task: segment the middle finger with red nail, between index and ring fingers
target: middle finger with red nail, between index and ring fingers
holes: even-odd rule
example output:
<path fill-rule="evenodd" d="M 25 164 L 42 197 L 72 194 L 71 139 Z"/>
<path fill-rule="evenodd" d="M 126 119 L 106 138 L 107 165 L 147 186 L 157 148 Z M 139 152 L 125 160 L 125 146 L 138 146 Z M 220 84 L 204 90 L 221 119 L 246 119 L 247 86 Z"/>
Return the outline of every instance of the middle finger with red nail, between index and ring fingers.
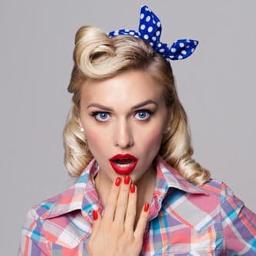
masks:
<path fill-rule="evenodd" d="M 114 221 L 121 227 L 124 224 L 126 216 L 126 208 L 128 204 L 129 192 L 130 192 L 130 177 L 126 176 L 123 179 L 123 184 L 120 187 L 120 193 L 116 204 L 116 212 Z"/>

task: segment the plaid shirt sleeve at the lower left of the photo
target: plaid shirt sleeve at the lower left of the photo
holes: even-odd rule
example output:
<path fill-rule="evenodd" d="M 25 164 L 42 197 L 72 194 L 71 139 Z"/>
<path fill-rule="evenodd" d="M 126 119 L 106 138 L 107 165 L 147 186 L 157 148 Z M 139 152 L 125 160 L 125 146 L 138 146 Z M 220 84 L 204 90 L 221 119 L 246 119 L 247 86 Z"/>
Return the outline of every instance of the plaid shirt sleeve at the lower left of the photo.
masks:
<path fill-rule="evenodd" d="M 26 215 L 22 227 L 22 239 L 18 256 L 45 256 L 49 255 L 45 237 L 42 233 L 42 223 L 35 210 L 32 209 Z"/>

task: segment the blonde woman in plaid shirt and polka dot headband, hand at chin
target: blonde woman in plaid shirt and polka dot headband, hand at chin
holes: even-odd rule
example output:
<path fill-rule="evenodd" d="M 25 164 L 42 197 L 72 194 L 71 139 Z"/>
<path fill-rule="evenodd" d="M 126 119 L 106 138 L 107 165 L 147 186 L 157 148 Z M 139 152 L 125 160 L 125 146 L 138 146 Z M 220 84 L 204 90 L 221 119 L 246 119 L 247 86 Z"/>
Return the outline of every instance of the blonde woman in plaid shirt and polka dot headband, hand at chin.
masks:
<path fill-rule="evenodd" d="M 22 255 L 254 255 L 255 214 L 195 162 L 170 59 L 147 6 L 139 32 L 76 34 L 64 130 L 76 184 L 33 207 Z M 110 36 L 110 37 L 109 37 Z"/>

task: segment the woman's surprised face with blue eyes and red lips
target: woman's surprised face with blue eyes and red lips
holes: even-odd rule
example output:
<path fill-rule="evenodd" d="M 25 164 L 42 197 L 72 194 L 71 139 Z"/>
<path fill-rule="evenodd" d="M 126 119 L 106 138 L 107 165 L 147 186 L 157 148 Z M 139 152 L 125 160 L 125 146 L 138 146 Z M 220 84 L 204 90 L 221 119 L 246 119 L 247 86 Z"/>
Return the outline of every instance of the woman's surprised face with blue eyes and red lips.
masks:
<path fill-rule="evenodd" d="M 129 71 L 81 89 L 80 121 L 99 172 L 110 180 L 140 180 L 150 168 L 167 129 L 163 86 L 143 71 Z"/>

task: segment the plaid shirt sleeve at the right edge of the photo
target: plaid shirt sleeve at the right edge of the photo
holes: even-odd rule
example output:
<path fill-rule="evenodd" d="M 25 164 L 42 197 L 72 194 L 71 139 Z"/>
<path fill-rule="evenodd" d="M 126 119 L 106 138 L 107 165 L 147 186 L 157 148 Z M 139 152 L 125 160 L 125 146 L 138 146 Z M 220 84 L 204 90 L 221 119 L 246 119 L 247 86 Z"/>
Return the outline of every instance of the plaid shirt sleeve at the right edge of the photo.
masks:
<path fill-rule="evenodd" d="M 227 255 L 256 255 L 256 214 L 222 184 L 221 214 Z"/>

